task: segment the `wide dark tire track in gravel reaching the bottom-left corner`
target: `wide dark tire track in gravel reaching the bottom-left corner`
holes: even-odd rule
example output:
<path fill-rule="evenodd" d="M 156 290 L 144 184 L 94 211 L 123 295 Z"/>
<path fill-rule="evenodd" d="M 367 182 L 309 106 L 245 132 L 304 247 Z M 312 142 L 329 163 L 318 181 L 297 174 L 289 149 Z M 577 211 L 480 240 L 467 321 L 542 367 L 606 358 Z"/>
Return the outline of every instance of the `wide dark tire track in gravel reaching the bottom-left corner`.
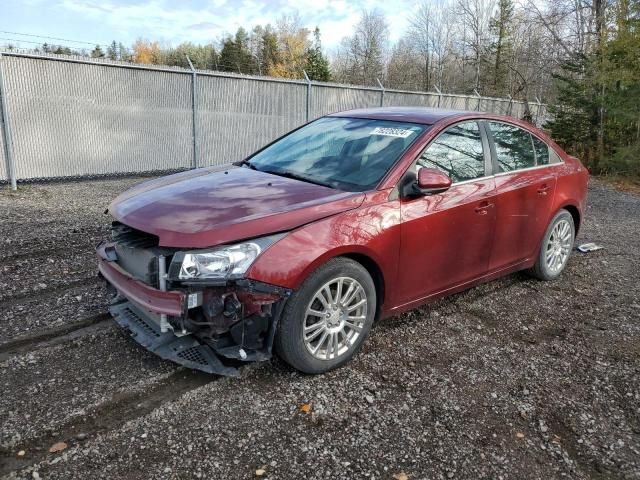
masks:
<path fill-rule="evenodd" d="M 41 462 L 51 455 L 49 447 L 64 441 L 69 446 L 78 445 L 104 433 L 116 430 L 131 420 L 142 417 L 159 406 L 179 399 L 181 396 L 214 382 L 221 377 L 203 372 L 179 369 L 169 377 L 141 392 L 122 392 L 87 414 L 73 418 L 63 424 L 57 432 L 45 434 L 19 444 L 16 448 L 0 447 L 0 475 L 21 470 Z M 82 433 L 81 437 L 78 435 Z M 17 457 L 15 452 L 27 452 Z"/>

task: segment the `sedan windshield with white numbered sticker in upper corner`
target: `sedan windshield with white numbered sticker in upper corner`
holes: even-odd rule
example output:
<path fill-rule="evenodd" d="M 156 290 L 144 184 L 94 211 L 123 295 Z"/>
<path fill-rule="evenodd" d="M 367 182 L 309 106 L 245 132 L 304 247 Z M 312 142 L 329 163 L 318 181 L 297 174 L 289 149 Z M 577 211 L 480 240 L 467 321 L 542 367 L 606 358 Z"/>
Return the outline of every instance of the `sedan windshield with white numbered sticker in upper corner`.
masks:
<path fill-rule="evenodd" d="M 325 117 L 256 153 L 246 164 L 340 190 L 373 189 L 427 125 Z"/>

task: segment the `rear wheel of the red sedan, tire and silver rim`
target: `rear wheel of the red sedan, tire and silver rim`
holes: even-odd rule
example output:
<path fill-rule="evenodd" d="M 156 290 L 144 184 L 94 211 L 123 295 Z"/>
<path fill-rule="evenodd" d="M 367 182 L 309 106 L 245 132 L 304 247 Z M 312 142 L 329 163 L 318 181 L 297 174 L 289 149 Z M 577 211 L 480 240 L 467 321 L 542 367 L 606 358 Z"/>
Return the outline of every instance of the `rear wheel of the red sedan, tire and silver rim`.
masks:
<path fill-rule="evenodd" d="M 536 263 L 528 273 L 545 281 L 558 278 L 567 266 L 575 236 L 573 217 L 568 211 L 560 210 L 549 223 Z"/>

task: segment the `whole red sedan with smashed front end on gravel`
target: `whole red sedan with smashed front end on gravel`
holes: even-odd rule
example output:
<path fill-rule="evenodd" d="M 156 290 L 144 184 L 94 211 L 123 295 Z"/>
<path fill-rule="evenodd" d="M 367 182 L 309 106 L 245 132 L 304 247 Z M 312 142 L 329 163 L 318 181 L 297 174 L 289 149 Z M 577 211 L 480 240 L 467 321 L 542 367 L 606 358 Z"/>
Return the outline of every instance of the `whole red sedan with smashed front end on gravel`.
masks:
<path fill-rule="evenodd" d="M 123 193 L 99 270 L 116 321 L 163 358 L 233 375 L 275 349 L 325 372 L 377 319 L 517 270 L 557 278 L 587 181 L 513 118 L 341 112 Z"/>

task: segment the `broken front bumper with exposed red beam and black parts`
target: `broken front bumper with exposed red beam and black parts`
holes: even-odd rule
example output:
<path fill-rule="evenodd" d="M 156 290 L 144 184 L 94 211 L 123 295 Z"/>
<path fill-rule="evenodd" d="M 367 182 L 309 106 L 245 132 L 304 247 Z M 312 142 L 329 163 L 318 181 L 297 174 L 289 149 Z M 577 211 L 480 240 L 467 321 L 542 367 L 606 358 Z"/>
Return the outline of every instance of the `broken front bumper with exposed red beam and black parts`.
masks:
<path fill-rule="evenodd" d="M 121 268 L 110 247 L 103 242 L 97 249 L 100 275 L 115 290 L 109 311 L 140 345 L 163 359 L 226 376 L 238 375 L 243 362 L 271 358 L 290 290 L 247 279 L 157 289 Z"/>

